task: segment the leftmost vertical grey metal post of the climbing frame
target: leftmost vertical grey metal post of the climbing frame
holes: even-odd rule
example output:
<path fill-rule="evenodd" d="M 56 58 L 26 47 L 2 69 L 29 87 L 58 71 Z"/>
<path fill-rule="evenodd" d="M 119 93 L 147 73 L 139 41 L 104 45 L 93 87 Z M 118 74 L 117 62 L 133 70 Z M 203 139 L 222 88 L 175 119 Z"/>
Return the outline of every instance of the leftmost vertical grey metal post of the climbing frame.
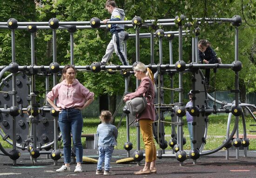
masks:
<path fill-rule="evenodd" d="M 15 30 L 12 29 L 11 31 L 12 36 L 12 62 L 15 62 Z M 16 75 L 13 73 L 12 78 L 12 85 L 13 85 L 13 105 L 16 105 Z M 16 150 L 16 117 L 13 117 L 13 150 Z M 13 160 L 13 165 L 16 165 L 16 160 Z"/>

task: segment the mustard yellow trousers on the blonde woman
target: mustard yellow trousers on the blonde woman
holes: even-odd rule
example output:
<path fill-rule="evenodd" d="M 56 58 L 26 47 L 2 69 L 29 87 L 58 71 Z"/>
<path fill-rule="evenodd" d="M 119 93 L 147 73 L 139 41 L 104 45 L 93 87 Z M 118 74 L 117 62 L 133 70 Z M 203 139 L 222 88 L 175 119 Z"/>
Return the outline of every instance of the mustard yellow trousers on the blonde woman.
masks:
<path fill-rule="evenodd" d="M 152 162 L 156 160 L 156 147 L 153 137 L 153 128 L 152 123 L 153 120 L 150 119 L 140 119 L 140 128 L 141 134 L 143 138 L 143 142 L 145 144 L 145 154 L 146 154 L 146 162 Z"/>

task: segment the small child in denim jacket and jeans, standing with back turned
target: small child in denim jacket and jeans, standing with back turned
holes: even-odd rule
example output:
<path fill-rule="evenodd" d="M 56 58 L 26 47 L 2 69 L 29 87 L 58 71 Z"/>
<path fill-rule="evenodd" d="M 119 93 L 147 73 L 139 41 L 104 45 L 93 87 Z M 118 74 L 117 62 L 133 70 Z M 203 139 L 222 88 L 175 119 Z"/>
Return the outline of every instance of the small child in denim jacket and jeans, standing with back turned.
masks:
<path fill-rule="evenodd" d="M 116 138 L 118 131 L 115 125 L 111 124 L 112 114 L 109 111 L 101 111 L 101 124 L 98 125 L 97 134 L 99 136 L 98 149 L 99 159 L 96 170 L 96 175 L 115 175 L 114 172 L 110 171 L 110 160 L 114 151 L 114 146 L 117 145 Z M 104 165 L 104 172 L 102 170 L 102 163 Z"/>

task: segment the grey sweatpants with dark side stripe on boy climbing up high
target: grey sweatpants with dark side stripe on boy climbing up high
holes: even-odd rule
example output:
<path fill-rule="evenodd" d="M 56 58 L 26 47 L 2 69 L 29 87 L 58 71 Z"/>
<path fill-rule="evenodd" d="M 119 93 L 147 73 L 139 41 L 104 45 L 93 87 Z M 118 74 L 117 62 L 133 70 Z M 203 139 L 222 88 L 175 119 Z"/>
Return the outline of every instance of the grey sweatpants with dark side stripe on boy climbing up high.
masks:
<path fill-rule="evenodd" d="M 101 62 L 107 63 L 110 59 L 111 55 L 113 54 L 114 50 L 119 59 L 121 60 L 124 66 L 128 66 L 129 63 L 127 61 L 127 57 L 123 52 L 123 39 L 124 39 L 124 31 L 114 33 L 112 35 L 112 39 L 108 43 L 108 47 L 106 49 L 106 53 L 101 59 Z"/>

